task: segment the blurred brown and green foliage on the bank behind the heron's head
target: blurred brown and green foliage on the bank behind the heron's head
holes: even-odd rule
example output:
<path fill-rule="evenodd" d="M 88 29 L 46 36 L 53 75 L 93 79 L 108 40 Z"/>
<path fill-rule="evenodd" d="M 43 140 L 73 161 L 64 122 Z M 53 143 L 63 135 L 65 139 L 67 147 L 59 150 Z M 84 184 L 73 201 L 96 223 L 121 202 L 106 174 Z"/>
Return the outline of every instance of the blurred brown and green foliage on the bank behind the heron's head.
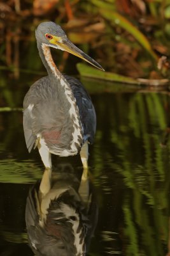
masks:
<path fill-rule="evenodd" d="M 34 30 L 45 20 L 60 24 L 108 72 L 158 81 L 169 77 L 169 8 L 169 0 L 3 0 L 0 68 L 8 72 L 1 72 L 2 80 L 42 70 Z M 60 70 L 75 74 L 69 66 L 73 57 L 57 55 Z"/>

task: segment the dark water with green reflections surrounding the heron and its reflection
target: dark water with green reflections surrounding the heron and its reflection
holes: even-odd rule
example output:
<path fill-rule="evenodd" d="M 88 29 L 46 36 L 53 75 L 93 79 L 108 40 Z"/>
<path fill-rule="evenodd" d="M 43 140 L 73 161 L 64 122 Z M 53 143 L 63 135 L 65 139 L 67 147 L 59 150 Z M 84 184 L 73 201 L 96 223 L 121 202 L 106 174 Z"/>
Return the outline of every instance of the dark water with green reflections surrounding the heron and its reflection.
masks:
<path fill-rule="evenodd" d="M 27 91 L 24 86 L 17 87 L 18 98 L 10 90 L 17 106 Z M 127 92 L 105 83 L 92 86 L 97 132 L 89 166 L 99 216 L 88 255 L 166 255 L 170 143 L 168 138 L 166 147 L 161 143 L 170 121 L 169 94 Z M 5 102 L 9 92 L 2 93 Z M 69 163 L 76 173 L 81 172 L 79 157 L 54 161 Z M 25 205 L 29 188 L 42 175 L 38 150 L 29 154 L 25 146 L 22 112 L 1 112 L 0 255 L 33 255 L 27 244 Z"/>

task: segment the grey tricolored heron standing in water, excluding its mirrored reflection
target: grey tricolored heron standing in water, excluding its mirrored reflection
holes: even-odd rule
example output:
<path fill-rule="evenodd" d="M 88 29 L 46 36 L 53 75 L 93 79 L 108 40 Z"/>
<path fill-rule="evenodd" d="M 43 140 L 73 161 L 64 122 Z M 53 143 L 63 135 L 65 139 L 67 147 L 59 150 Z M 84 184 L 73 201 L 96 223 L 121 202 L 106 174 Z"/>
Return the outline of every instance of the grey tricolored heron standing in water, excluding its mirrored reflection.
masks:
<path fill-rule="evenodd" d="M 39 56 L 48 72 L 32 84 L 24 98 L 24 135 L 27 148 L 38 147 L 45 168 L 52 167 L 51 154 L 73 156 L 80 152 L 87 168 L 88 142 L 96 132 L 96 113 L 89 94 L 77 79 L 62 75 L 53 62 L 50 47 L 67 51 L 103 70 L 71 43 L 53 22 L 36 29 Z M 82 148 L 81 148 L 82 147 Z"/>

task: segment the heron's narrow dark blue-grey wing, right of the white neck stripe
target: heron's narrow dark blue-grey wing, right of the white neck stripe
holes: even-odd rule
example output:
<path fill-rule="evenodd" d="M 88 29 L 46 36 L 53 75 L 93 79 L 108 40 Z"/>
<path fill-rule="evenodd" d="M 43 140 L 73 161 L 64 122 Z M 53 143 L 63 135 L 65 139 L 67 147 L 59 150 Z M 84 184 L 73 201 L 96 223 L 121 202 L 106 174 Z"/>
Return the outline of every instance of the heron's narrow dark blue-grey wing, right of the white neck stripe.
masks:
<path fill-rule="evenodd" d="M 81 124 L 83 126 L 84 141 L 88 140 L 90 143 L 93 143 L 96 132 L 96 112 L 90 95 L 78 79 L 66 75 L 64 75 L 64 77 L 69 82 L 74 97 L 76 98 Z"/>

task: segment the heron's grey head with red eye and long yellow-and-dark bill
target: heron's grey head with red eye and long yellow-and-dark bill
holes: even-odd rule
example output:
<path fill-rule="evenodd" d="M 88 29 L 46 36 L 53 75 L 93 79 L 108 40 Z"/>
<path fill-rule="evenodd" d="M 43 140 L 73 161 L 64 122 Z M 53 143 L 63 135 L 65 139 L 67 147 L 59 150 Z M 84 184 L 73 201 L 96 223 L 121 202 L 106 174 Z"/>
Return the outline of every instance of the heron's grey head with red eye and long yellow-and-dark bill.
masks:
<path fill-rule="evenodd" d="M 67 38 L 66 33 L 62 28 L 54 22 L 42 22 L 39 24 L 36 29 L 36 40 L 41 44 L 48 45 L 49 47 L 67 51 L 78 58 L 89 62 L 94 67 L 104 70 L 97 61 L 93 60 L 90 56 L 85 54 L 85 52 L 76 47 L 76 45 Z"/>

